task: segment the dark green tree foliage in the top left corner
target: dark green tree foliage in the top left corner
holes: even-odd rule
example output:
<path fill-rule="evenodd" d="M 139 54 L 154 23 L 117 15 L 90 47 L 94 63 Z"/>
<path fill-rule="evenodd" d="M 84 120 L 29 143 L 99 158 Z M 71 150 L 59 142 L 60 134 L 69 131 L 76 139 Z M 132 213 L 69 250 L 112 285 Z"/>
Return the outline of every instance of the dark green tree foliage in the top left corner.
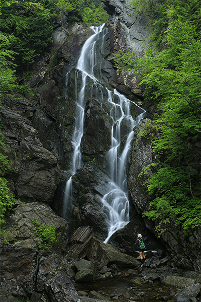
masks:
<path fill-rule="evenodd" d="M 51 5 L 50 5 L 51 4 Z M 18 53 L 17 64 L 29 66 L 52 42 L 53 3 L 22 1 L 2 9 L 1 30 L 9 34 L 10 47 Z"/>

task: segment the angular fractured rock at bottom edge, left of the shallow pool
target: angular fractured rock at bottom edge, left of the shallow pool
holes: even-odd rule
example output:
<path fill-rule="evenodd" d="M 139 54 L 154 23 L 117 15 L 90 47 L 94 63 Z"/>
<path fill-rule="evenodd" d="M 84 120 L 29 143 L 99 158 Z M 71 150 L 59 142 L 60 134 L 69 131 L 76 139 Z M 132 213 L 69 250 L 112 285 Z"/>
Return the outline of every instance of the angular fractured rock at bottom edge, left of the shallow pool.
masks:
<path fill-rule="evenodd" d="M 67 275 L 60 271 L 44 284 L 50 301 L 77 302 L 80 297 Z"/>

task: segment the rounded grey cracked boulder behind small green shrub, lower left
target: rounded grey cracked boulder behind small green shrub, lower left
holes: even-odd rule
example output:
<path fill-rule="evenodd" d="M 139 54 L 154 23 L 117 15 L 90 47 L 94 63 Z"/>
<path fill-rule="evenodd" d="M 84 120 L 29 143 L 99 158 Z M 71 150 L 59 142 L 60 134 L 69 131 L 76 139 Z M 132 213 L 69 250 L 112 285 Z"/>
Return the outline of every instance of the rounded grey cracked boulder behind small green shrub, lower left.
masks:
<path fill-rule="evenodd" d="M 45 229 L 54 226 L 55 242 L 51 249 L 64 252 L 68 230 L 66 220 L 57 216 L 48 205 L 37 202 L 16 202 L 15 208 L 6 218 L 4 240 L 15 246 L 38 249 L 39 245 L 43 246 L 47 242 L 41 237 L 36 222 Z"/>

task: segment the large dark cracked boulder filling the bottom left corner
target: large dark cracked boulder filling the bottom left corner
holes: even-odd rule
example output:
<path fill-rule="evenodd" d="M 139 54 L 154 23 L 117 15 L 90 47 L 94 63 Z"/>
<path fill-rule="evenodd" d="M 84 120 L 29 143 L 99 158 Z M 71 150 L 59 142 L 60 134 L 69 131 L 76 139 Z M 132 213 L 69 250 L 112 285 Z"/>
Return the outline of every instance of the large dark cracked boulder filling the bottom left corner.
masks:
<path fill-rule="evenodd" d="M 59 265 L 63 256 L 52 251 L 0 244 L 0 286 L 10 294 L 27 296 L 43 289 L 48 274 Z"/>

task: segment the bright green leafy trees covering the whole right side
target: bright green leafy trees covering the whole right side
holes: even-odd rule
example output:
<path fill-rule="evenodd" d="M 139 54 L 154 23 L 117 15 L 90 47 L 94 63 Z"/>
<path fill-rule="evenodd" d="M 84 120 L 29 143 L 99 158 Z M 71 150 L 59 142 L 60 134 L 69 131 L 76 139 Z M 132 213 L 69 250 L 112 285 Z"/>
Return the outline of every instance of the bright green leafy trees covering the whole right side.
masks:
<path fill-rule="evenodd" d="M 184 234 L 200 225 L 200 6 L 197 0 L 135 0 L 138 12 L 152 12 L 155 31 L 145 55 L 114 56 L 120 71 L 139 74 L 145 98 L 158 103 L 155 126 L 141 137 L 153 139 L 158 170 L 145 183 L 152 196 L 144 215 L 156 220 L 160 236 L 175 221 Z M 165 22 L 164 22 L 165 21 Z M 167 23 L 168 21 L 168 23 Z M 166 29 L 161 32 L 161 26 Z M 168 24 L 168 25 L 167 25 Z M 146 167 L 143 173 L 151 169 Z"/>

